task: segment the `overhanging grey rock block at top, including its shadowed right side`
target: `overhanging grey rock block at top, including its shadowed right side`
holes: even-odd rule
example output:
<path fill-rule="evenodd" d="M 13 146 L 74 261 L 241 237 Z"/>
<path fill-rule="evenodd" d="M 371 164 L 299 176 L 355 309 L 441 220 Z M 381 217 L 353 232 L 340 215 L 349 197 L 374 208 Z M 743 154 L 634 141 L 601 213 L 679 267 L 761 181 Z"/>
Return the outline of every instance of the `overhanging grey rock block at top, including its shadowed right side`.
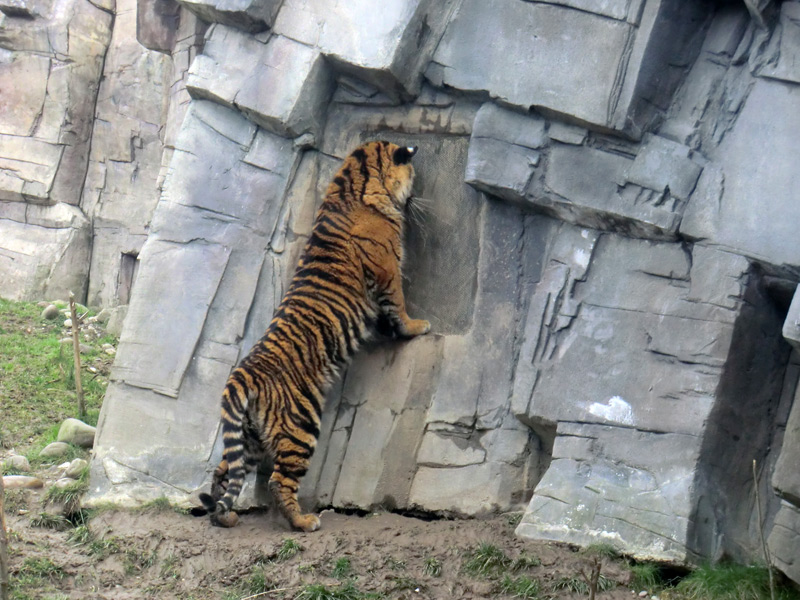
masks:
<path fill-rule="evenodd" d="M 614 18 L 597 18 L 573 6 Z M 665 108 L 653 97 L 669 96 L 680 78 L 678 65 L 693 60 L 692 38 L 702 23 L 697 7 L 679 8 L 675 2 L 651 1 L 640 9 L 639 3 L 598 8 L 586 2 L 466 0 L 426 76 L 435 85 L 486 91 L 523 109 L 638 137 Z M 512 64 L 508 56 L 515 57 Z M 505 68 L 494 68 L 500 63 Z"/>

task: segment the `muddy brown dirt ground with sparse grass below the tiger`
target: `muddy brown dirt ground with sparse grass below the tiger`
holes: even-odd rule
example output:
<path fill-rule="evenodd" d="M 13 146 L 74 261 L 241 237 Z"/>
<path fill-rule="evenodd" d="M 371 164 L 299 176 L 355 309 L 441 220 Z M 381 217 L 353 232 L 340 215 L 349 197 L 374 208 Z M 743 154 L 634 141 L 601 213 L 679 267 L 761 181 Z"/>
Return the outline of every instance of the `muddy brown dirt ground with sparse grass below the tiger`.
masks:
<path fill-rule="evenodd" d="M 41 495 L 7 495 L 18 600 L 535 597 L 521 595 L 520 578 L 538 580 L 540 598 L 587 597 L 579 573 L 589 559 L 564 545 L 517 539 L 513 515 L 422 520 L 324 511 L 319 531 L 298 533 L 270 512 L 241 515 L 235 528 L 220 529 L 161 506 L 101 511 L 84 527 L 57 530 L 32 524 Z M 503 566 L 470 575 L 465 565 L 481 544 L 491 545 L 483 547 L 486 557 L 500 550 L 494 555 L 504 557 Z M 598 598 L 634 597 L 624 561 L 606 561 L 602 574 L 614 587 Z"/>

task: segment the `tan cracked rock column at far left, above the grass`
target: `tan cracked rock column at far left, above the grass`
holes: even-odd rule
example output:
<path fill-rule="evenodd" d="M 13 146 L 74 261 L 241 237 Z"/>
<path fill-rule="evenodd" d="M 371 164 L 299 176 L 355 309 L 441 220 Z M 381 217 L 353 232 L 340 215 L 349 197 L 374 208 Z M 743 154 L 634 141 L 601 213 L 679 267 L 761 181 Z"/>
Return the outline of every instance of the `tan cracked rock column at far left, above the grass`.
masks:
<path fill-rule="evenodd" d="M 12 3 L 0 13 L 0 281 L 10 298 L 83 296 L 79 208 L 112 4 Z"/>

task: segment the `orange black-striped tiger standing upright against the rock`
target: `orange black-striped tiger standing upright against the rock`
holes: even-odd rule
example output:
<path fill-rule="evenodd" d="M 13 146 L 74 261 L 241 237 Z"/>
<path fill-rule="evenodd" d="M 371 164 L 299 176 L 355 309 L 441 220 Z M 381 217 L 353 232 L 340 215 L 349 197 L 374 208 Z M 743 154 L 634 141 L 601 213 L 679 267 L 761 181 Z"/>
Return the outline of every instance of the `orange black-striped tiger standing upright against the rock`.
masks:
<path fill-rule="evenodd" d="M 292 527 L 315 531 L 297 502 L 319 437 L 325 393 L 380 321 L 401 337 L 430 331 L 411 319 L 401 269 L 405 208 L 416 148 L 364 144 L 328 186 L 286 296 L 266 333 L 222 394 L 222 462 L 200 500 L 211 522 L 232 527 L 245 473 L 273 461 L 269 487 Z"/>

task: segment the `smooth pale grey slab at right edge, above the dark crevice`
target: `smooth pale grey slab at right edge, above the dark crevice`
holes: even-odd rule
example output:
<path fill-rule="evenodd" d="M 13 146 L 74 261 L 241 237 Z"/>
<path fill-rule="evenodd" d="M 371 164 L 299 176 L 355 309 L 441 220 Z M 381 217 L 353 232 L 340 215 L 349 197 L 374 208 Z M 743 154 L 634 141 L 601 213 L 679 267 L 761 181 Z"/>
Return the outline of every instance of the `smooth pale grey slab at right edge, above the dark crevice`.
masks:
<path fill-rule="evenodd" d="M 756 79 L 741 114 L 715 151 L 719 171 L 704 173 L 681 232 L 775 265 L 800 266 L 794 190 L 800 172 L 790 158 L 800 132 L 800 88 Z M 752 140 L 769 139 L 758 152 Z M 754 210 L 752 199 L 758 199 Z M 768 230 L 769 235 L 763 235 Z"/>

